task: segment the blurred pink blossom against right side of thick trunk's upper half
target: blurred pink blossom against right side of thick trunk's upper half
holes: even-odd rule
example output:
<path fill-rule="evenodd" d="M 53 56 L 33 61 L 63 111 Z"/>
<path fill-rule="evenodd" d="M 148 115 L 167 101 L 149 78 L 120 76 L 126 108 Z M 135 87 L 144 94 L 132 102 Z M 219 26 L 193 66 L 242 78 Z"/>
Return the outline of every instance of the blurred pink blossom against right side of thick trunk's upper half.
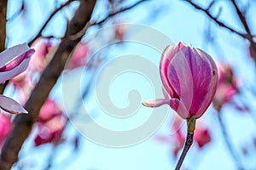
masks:
<path fill-rule="evenodd" d="M 73 52 L 72 59 L 68 63 L 68 69 L 74 69 L 86 65 L 86 56 L 89 53 L 89 47 L 86 43 L 80 42 Z"/>

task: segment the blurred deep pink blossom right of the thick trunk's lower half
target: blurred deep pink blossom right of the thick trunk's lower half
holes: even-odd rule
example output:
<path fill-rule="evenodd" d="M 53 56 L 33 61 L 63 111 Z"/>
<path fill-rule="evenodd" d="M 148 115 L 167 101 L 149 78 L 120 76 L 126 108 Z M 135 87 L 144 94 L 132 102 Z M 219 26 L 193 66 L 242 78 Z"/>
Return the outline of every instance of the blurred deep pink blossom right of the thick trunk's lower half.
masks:
<path fill-rule="evenodd" d="M 63 116 L 61 107 L 54 100 L 47 99 L 39 112 L 36 123 L 38 133 L 34 139 L 35 145 L 59 143 L 66 122 L 67 117 Z"/>

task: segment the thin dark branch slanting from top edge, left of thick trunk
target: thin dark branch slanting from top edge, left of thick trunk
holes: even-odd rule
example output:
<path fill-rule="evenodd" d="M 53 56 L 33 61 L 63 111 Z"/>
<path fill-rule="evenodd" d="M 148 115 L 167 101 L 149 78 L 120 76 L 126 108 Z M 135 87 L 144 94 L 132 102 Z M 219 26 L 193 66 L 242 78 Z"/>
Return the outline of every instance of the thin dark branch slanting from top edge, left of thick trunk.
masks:
<path fill-rule="evenodd" d="M 44 22 L 44 25 L 38 31 L 38 34 L 35 37 L 33 37 L 32 40 L 30 40 L 28 42 L 28 45 L 31 46 L 32 42 L 34 42 L 36 39 L 38 39 L 38 37 L 41 37 L 42 32 L 44 31 L 44 28 L 48 25 L 49 21 L 55 16 L 55 14 L 57 14 L 62 8 L 66 7 L 67 5 L 72 3 L 73 1 L 76 1 L 76 0 L 68 0 L 66 3 L 61 4 L 61 6 L 59 8 L 55 8 L 55 10 L 49 15 L 49 18 Z"/>

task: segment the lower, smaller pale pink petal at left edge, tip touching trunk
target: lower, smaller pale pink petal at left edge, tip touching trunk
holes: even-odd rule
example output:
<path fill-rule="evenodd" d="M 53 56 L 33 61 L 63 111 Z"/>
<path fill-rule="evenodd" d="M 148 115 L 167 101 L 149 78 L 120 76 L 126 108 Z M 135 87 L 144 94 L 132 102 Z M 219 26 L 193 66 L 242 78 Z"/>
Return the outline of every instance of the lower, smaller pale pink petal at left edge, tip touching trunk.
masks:
<path fill-rule="evenodd" d="M 28 113 L 18 102 L 0 94 L 0 108 L 11 114 Z"/>

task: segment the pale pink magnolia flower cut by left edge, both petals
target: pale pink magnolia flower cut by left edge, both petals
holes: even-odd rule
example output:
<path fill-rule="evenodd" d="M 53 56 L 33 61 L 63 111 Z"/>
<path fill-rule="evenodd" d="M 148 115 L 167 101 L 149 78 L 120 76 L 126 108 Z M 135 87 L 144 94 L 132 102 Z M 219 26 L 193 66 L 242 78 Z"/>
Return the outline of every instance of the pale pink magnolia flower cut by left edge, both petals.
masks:
<path fill-rule="evenodd" d="M 26 43 L 4 50 L 0 54 L 0 83 L 3 83 L 25 71 L 35 50 Z M 14 99 L 0 95 L 0 108 L 12 114 L 27 113 Z"/>

